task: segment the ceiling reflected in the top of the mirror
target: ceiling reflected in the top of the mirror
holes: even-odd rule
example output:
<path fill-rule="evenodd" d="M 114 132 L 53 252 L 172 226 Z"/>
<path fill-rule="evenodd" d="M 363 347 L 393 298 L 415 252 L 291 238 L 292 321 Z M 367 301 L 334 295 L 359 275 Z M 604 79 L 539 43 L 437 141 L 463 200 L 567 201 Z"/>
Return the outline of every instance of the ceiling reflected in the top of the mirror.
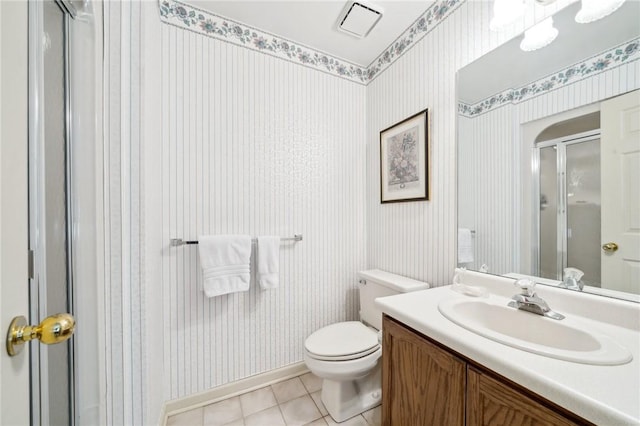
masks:
<path fill-rule="evenodd" d="M 640 35 L 640 1 L 627 1 L 613 14 L 590 24 L 578 24 L 574 3 L 556 13 L 558 37 L 533 52 L 520 49 L 522 35 L 464 67 L 459 73 L 460 100 L 475 104 L 507 89 L 537 81 L 585 58 Z"/>

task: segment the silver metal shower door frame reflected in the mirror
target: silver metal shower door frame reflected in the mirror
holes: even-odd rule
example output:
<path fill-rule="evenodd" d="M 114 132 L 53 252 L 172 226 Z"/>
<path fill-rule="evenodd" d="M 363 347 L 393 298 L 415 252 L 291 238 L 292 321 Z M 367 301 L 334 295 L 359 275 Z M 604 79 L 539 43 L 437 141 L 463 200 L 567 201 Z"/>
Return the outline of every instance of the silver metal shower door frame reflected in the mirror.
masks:
<path fill-rule="evenodd" d="M 575 145 L 582 142 L 600 139 L 600 129 L 589 130 L 587 132 L 576 133 L 573 135 L 563 136 L 557 139 L 551 139 L 544 142 L 538 142 L 533 147 L 532 155 L 532 175 L 533 175 L 533 268 L 535 275 L 540 276 L 540 149 L 551 146 L 556 147 L 556 248 L 558 250 L 556 256 L 556 279 L 563 280 L 563 270 L 567 267 L 568 257 L 568 235 L 567 235 L 567 146 Z"/>

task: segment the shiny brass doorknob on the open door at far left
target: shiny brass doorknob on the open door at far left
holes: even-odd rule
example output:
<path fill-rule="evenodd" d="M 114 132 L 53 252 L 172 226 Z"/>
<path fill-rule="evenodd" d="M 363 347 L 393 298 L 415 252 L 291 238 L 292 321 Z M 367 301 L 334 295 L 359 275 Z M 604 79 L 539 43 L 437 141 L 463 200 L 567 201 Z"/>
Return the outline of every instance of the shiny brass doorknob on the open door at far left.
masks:
<path fill-rule="evenodd" d="M 75 326 L 76 321 L 70 314 L 51 315 L 39 325 L 27 325 L 25 317 L 15 317 L 7 332 L 7 352 L 10 356 L 18 355 L 23 344 L 33 339 L 47 345 L 64 342 L 71 337 Z"/>

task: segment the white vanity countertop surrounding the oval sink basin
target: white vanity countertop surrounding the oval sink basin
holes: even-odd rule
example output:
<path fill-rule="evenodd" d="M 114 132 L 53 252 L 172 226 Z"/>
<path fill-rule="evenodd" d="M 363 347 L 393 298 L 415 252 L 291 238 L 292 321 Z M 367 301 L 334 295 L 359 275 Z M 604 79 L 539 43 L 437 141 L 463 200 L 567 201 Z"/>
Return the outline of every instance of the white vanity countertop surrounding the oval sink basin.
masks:
<path fill-rule="evenodd" d="M 487 287 L 494 299 L 516 293 L 513 280 L 482 275 L 467 272 L 463 282 Z M 640 424 L 640 305 L 565 289 L 539 286 L 537 290 L 551 309 L 584 323 L 586 331 L 611 337 L 631 351 L 633 360 L 617 366 L 580 364 L 482 337 L 438 311 L 442 300 L 472 298 L 450 286 L 378 298 L 376 305 L 407 326 L 586 420 L 603 426 Z"/>

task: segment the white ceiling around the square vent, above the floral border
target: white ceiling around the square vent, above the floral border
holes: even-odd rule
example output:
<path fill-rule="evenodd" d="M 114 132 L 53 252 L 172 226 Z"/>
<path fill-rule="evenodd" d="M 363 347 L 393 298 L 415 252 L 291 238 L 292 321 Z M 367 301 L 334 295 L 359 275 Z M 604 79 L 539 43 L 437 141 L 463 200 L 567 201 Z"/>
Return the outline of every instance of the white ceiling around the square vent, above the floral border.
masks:
<path fill-rule="evenodd" d="M 382 18 L 363 39 L 337 29 L 350 1 L 215 1 L 186 3 L 239 23 L 272 33 L 314 50 L 367 67 L 411 26 L 434 2 L 368 1 L 360 3 L 382 12 Z"/>

